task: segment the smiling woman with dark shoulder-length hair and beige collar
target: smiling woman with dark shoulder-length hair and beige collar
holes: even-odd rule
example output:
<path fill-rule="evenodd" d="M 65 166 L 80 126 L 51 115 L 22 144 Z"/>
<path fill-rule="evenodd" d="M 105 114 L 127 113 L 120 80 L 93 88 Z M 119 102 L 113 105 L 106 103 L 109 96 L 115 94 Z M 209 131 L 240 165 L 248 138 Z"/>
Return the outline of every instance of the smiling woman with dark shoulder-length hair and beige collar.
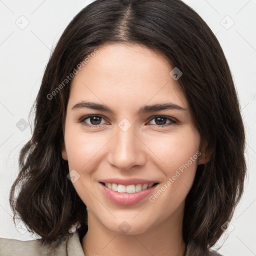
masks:
<path fill-rule="evenodd" d="M 10 204 L 42 238 L 1 238 L 4 255 L 220 255 L 210 247 L 243 191 L 244 129 L 224 53 L 193 9 L 87 5 L 35 108 Z"/>

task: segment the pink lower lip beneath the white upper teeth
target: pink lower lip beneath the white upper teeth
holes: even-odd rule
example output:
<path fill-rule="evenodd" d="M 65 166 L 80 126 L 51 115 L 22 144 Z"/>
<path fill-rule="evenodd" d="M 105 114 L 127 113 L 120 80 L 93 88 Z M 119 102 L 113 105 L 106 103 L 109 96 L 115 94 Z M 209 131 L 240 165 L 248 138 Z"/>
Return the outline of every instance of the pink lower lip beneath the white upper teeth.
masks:
<path fill-rule="evenodd" d="M 152 193 L 157 185 L 158 184 L 135 193 L 119 193 L 109 189 L 104 184 L 99 183 L 100 189 L 111 202 L 122 205 L 130 205 L 139 202 L 150 193 Z"/>

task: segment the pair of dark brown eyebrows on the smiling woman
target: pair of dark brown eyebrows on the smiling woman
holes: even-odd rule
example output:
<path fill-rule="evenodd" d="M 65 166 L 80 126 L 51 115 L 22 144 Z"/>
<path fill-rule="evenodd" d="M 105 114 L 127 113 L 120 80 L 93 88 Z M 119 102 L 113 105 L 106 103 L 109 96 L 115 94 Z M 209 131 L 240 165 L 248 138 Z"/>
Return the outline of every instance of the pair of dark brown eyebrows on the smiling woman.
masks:
<path fill-rule="evenodd" d="M 111 108 L 109 108 L 108 106 L 106 106 L 104 104 L 95 103 L 95 102 L 81 101 L 79 103 L 74 104 L 71 109 L 74 110 L 74 109 L 79 109 L 79 108 L 90 108 L 90 109 L 106 111 L 109 113 L 114 113 L 114 111 Z M 138 113 L 147 113 L 147 112 L 166 110 L 166 109 L 186 110 L 185 108 L 183 108 L 177 104 L 161 103 L 161 104 L 142 106 L 141 108 L 139 108 Z"/>

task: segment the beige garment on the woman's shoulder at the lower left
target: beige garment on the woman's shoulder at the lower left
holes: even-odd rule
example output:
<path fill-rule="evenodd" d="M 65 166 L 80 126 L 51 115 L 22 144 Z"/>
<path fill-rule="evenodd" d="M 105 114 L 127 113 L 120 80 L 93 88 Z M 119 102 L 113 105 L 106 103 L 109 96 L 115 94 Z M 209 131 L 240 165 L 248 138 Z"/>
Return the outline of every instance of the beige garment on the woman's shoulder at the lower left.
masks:
<path fill-rule="evenodd" d="M 21 241 L 16 239 L 0 238 L 0 256 L 63 256 L 77 255 L 84 256 L 79 241 L 78 233 L 72 233 L 62 237 L 61 243 L 57 247 L 41 245 L 40 239 Z"/>

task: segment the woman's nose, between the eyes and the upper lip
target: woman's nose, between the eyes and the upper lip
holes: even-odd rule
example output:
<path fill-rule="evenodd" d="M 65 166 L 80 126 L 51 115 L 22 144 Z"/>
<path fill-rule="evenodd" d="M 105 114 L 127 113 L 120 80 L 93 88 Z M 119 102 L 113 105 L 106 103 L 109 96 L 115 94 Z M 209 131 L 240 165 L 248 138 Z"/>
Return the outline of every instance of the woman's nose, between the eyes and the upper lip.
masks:
<path fill-rule="evenodd" d="M 146 146 L 133 126 L 126 131 L 117 127 L 109 146 L 107 162 L 118 169 L 129 170 L 133 166 L 145 164 Z"/>

